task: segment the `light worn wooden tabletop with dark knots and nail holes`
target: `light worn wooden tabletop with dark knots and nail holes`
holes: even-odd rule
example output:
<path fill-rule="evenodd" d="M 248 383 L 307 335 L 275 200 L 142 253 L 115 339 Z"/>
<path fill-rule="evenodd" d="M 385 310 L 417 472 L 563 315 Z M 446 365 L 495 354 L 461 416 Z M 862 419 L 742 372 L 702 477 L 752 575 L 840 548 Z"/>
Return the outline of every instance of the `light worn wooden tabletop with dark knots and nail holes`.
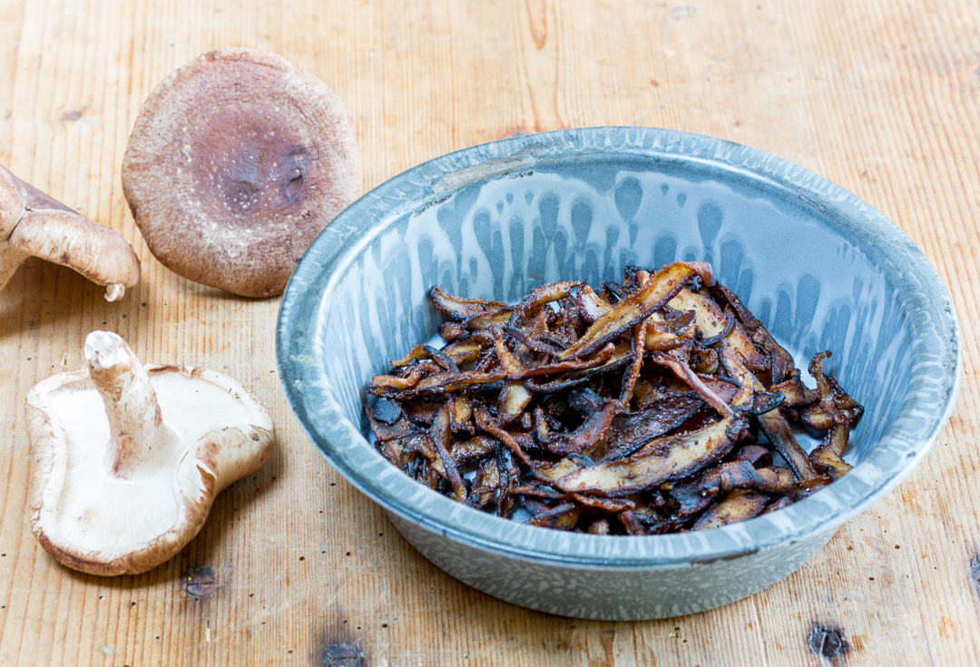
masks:
<path fill-rule="evenodd" d="M 684 0 L 678 0 L 683 2 Z M 346 102 L 365 188 L 515 133 L 670 127 L 842 184 L 935 263 L 963 328 L 950 425 L 916 472 L 796 574 L 703 614 L 568 620 L 477 593 L 417 554 L 307 442 L 274 360 L 278 300 L 187 282 L 148 252 L 120 184 L 140 104 L 224 46 L 279 53 Z M 121 303 L 30 261 L 0 292 L 0 665 L 976 665 L 980 654 L 980 5 L 975 0 L 3 0 L 0 163 L 121 232 L 143 262 Z M 167 564 L 100 579 L 53 561 L 25 509 L 31 385 L 85 334 L 250 386 L 276 453 Z M 185 593 L 194 567 L 214 594 Z M 810 642 L 808 642 L 810 638 Z M 825 643 L 824 648 L 829 648 Z M 829 652 L 829 651 L 828 651 Z M 353 664 L 327 660 L 330 664 Z"/>

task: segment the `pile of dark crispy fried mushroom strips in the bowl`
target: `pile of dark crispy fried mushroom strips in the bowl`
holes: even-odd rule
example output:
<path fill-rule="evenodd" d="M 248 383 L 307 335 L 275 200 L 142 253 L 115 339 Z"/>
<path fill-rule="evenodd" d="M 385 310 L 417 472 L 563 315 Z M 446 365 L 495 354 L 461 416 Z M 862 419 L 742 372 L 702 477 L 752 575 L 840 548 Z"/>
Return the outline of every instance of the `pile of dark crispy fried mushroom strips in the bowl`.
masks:
<path fill-rule="evenodd" d="M 447 345 L 392 361 L 365 410 L 379 453 L 470 507 L 656 535 L 781 509 L 851 468 L 862 407 L 824 371 L 830 353 L 809 389 L 708 264 L 631 266 L 598 292 L 543 285 L 513 307 L 430 297 Z M 791 422 L 822 439 L 812 453 Z"/>

